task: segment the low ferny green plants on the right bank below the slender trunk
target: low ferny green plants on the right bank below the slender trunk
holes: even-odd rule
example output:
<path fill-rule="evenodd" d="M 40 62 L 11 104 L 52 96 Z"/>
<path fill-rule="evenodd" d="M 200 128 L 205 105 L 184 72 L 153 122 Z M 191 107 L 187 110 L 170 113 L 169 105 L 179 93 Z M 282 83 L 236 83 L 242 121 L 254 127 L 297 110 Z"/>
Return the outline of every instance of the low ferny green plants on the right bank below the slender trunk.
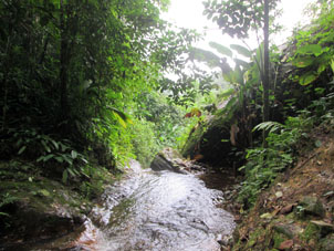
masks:
<path fill-rule="evenodd" d="M 305 132 L 312 128 L 312 119 L 301 114 L 298 117 L 289 117 L 284 125 L 265 122 L 254 127 L 269 132 L 268 147 L 247 151 L 248 163 L 240 168 L 247 177 L 239 196 L 241 201 L 248 200 L 253 205 L 257 195 L 269 187 L 280 172 L 293 165 L 298 153 L 296 144 L 301 138 L 307 137 Z"/>

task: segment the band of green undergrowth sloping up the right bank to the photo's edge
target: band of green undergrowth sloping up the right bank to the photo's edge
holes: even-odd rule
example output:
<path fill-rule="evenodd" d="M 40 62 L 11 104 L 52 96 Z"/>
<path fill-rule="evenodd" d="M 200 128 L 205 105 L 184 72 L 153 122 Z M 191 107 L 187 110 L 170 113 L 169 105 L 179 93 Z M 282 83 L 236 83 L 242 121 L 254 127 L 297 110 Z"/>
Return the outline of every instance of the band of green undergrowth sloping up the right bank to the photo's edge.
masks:
<path fill-rule="evenodd" d="M 330 83 L 333 84 L 333 83 Z M 334 86 L 331 87 L 334 91 Z M 246 208 L 254 205 L 257 196 L 268 188 L 286 168 L 292 168 L 301 150 L 320 147 L 321 142 L 311 137 L 314 127 L 334 125 L 334 93 L 314 101 L 307 109 L 295 117 L 288 117 L 284 124 L 261 123 L 254 130 L 269 132 L 268 148 L 255 147 L 247 150 L 247 164 L 240 168 L 246 174 L 239 194 L 239 201 Z"/>

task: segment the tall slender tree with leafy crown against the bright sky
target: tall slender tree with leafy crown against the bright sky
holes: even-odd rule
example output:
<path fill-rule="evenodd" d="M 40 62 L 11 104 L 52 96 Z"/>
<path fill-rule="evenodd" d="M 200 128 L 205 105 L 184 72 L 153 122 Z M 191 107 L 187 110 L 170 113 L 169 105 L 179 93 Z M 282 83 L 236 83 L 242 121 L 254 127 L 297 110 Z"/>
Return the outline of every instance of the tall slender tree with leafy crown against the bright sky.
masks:
<path fill-rule="evenodd" d="M 217 1 L 208 0 L 205 2 L 205 14 L 208 19 L 217 22 L 222 29 L 222 33 L 230 36 L 244 40 L 249 38 L 249 32 L 262 29 L 263 31 L 263 59 L 258 62 L 258 67 L 261 75 L 263 86 L 263 122 L 269 121 L 269 90 L 270 90 L 270 73 L 269 73 L 269 12 L 276 7 L 280 0 L 229 0 Z M 265 143 L 267 133 L 263 134 L 263 144 Z"/>

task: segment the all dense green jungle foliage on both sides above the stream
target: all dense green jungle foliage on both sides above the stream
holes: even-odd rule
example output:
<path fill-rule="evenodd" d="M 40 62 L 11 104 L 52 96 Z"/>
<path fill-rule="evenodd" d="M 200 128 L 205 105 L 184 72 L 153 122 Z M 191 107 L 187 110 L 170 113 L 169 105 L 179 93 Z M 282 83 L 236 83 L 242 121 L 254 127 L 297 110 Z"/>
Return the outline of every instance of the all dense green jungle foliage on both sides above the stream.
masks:
<path fill-rule="evenodd" d="M 218 138 L 222 158 L 241 159 L 240 200 L 252 206 L 314 126 L 333 126 L 334 3 L 312 4 L 311 23 L 280 45 L 270 41 L 279 1 L 251 2 L 208 0 L 205 15 L 243 42 L 258 33 L 258 49 L 206 51 L 191 45 L 195 31 L 160 19 L 168 0 L 2 0 L 0 158 L 14 159 L 18 176 L 0 178 L 46 176 L 87 195 L 97 166 L 149 166 L 213 115 L 229 132 Z M 0 208 L 14 199 L 1 195 Z"/>

